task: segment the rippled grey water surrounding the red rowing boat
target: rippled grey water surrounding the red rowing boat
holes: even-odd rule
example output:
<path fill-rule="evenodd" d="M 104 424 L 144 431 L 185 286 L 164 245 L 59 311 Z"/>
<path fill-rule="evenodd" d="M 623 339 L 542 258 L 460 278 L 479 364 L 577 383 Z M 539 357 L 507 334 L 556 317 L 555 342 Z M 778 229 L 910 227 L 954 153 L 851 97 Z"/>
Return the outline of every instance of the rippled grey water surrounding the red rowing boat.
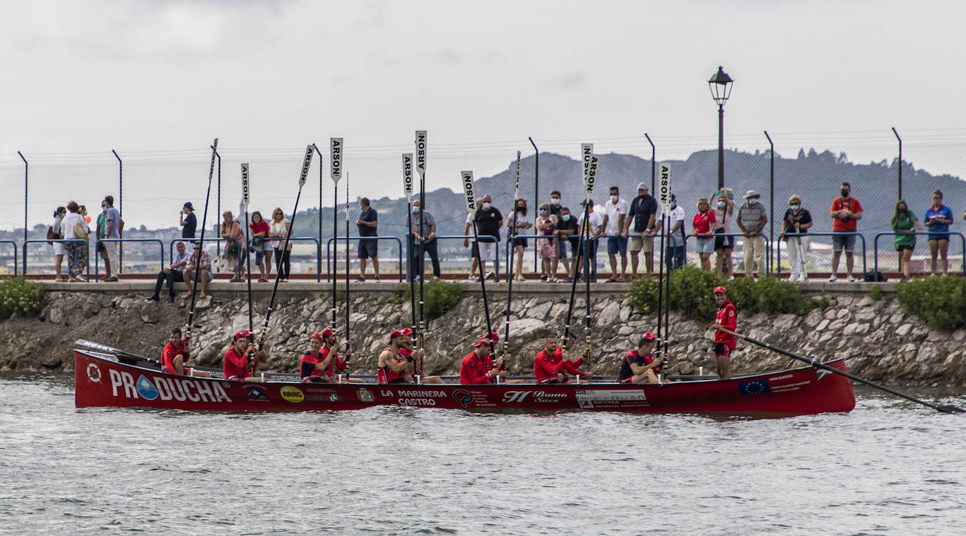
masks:
<path fill-rule="evenodd" d="M 920 393 L 966 406 L 966 396 Z M 966 534 L 966 414 L 74 409 L 0 377 L 0 531 Z"/>

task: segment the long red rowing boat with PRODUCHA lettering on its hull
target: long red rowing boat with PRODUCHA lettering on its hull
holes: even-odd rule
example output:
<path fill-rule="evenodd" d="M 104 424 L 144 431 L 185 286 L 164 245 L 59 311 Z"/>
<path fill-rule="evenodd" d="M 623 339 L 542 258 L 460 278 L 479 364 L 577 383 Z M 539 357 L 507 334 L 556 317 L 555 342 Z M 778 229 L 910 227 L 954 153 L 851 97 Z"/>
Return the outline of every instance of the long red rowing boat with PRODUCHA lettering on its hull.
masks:
<path fill-rule="evenodd" d="M 81 341 L 78 341 L 81 344 Z M 160 372 L 156 361 L 93 343 L 74 350 L 74 405 L 157 409 L 363 409 L 398 405 L 442 409 L 588 409 L 650 413 L 781 416 L 850 411 L 851 382 L 815 367 L 766 374 L 679 377 L 627 383 L 463 385 L 303 383 L 292 374 L 265 381 L 189 378 Z M 842 359 L 825 363 L 845 371 Z M 213 376 L 220 371 L 206 369 Z"/>

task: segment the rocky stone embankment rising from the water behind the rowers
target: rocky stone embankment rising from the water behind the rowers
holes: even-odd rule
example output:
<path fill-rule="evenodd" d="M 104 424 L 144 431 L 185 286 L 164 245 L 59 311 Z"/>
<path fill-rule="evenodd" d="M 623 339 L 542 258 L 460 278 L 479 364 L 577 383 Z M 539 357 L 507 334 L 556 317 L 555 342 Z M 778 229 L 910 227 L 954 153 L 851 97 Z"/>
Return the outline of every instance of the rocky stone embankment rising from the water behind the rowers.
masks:
<path fill-rule="evenodd" d="M 298 355 L 307 347 L 309 334 L 330 323 L 331 297 L 319 288 L 290 291 L 276 300 L 267 338 L 269 370 L 296 370 Z M 352 370 L 356 374 L 373 374 L 386 334 L 410 324 L 409 304 L 393 292 L 397 289 L 395 285 L 383 284 L 380 291 L 353 294 L 351 334 L 356 352 Z M 0 323 L 0 337 L 5 341 L 0 370 L 71 370 L 71 349 L 76 339 L 156 358 L 166 342 L 168 328 L 183 326 L 187 311 L 184 305 L 145 301 L 142 296 L 123 291 L 48 291 L 38 318 L 14 317 Z M 873 381 L 893 385 L 966 385 L 966 329 L 952 333 L 932 330 L 906 313 L 889 293 L 879 300 L 861 293 L 829 296 L 825 310 L 814 310 L 805 317 L 739 315 L 739 331 L 807 356 L 847 357 L 851 372 Z M 490 299 L 493 325 L 501 336 L 503 297 Z M 195 324 L 200 327 L 195 329 L 192 346 L 202 349 L 196 353 L 201 364 L 220 366 L 231 335 L 247 327 L 247 300 L 237 294 L 215 293 L 213 301 L 206 305 L 196 313 Z M 584 301 L 578 299 L 571 327 L 579 339 L 583 336 L 583 306 Z M 592 297 L 591 307 L 594 351 L 589 368 L 594 374 L 614 375 L 621 357 L 633 348 L 639 334 L 655 328 L 655 318 L 632 314 L 622 295 L 610 289 Z M 253 308 L 257 313 L 256 326 L 261 325 L 267 308 L 268 296 L 262 293 Z M 563 329 L 566 296 L 526 293 L 524 289 L 515 294 L 513 310 L 514 357 L 510 371 L 516 375 L 532 374 L 532 358 L 541 348 L 541 338 Z M 337 318 L 339 331 L 344 332 L 345 309 L 341 306 Z M 707 324 L 682 320 L 671 313 L 672 372 L 693 374 L 699 367 L 706 373 L 714 370 Z M 430 324 L 426 336 L 427 374 L 458 374 L 460 360 L 471 350 L 471 342 L 485 331 L 482 299 L 468 287 L 455 308 Z M 778 353 L 739 342 L 732 370 L 774 370 L 791 364 L 791 359 Z"/>

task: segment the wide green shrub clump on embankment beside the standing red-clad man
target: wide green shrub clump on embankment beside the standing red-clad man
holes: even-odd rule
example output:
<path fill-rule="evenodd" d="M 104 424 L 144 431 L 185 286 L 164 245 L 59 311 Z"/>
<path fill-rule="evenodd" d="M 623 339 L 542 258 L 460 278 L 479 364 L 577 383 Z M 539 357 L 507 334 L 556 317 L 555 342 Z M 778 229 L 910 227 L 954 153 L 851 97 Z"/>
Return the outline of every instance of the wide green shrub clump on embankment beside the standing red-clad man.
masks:
<path fill-rule="evenodd" d="M 728 298 L 745 315 L 760 312 L 804 315 L 815 307 L 822 306 L 815 299 L 800 296 L 801 289 L 798 285 L 775 277 L 758 281 L 753 281 L 750 277 L 739 277 L 733 281 L 725 281 L 714 272 L 684 267 L 671 272 L 670 308 L 683 311 L 689 318 L 711 320 L 718 310 L 718 304 L 711 292 L 719 285 L 727 289 Z M 657 279 L 638 279 L 627 297 L 635 312 L 645 315 L 656 312 Z"/>

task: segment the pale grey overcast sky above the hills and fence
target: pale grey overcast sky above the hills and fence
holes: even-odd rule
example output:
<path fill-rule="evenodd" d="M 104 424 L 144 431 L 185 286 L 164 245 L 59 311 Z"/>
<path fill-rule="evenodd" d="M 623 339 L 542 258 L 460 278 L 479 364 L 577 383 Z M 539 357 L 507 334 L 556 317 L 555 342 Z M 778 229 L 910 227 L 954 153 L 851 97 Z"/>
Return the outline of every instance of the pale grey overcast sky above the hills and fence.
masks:
<path fill-rule="evenodd" d="M 431 147 L 501 142 L 504 167 L 527 136 L 574 140 L 574 154 L 579 140 L 645 131 L 710 149 L 719 65 L 736 80 L 729 147 L 764 147 L 763 129 L 819 149 L 848 137 L 837 132 L 886 147 L 890 127 L 966 140 L 962 2 L 32 0 L 3 12 L 4 165 L 17 151 L 203 154 L 215 136 L 240 158 L 298 159 L 330 136 L 398 154 L 417 128 Z"/>

